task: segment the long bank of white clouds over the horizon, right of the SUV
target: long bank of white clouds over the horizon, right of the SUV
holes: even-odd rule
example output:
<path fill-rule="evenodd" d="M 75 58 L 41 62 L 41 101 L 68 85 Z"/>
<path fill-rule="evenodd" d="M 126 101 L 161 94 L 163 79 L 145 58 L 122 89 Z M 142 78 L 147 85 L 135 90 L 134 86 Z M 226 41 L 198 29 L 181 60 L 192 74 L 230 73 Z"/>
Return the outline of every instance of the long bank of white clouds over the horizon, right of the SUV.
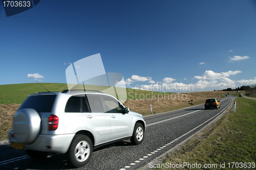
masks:
<path fill-rule="evenodd" d="M 164 78 L 162 82 L 155 82 L 153 80 L 148 81 L 147 83 L 151 84 L 134 84 L 132 82 L 136 82 L 136 80 L 144 80 L 152 79 L 151 77 L 141 77 L 133 75 L 132 79 L 126 79 L 125 84 L 129 85 L 127 88 L 140 89 L 140 90 L 150 90 L 150 91 L 194 91 L 195 89 L 216 89 L 222 90 L 226 88 L 236 88 L 243 85 L 252 85 L 256 84 L 256 77 L 250 80 L 240 80 L 234 81 L 229 79 L 231 75 L 239 74 L 240 70 L 236 71 L 227 71 L 227 72 L 214 72 L 212 70 L 206 70 L 202 76 L 195 76 L 194 78 L 199 79 L 195 83 L 183 84 L 182 82 L 174 82 L 176 79 L 173 78 Z M 193 79 L 194 79 L 193 78 Z M 186 79 L 184 79 L 186 80 Z M 130 84 L 134 84 L 130 86 Z"/>

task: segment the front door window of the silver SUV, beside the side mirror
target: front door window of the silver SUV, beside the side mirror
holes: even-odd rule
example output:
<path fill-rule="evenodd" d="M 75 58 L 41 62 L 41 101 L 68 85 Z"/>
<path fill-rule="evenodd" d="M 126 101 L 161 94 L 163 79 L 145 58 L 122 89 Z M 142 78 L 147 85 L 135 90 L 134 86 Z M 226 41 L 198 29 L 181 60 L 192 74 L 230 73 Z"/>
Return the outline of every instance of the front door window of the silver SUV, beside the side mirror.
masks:
<path fill-rule="evenodd" d="M 110 96 L 102 96 L 103 103 L 106 106 L 106 113 L 123 113 L 124 107 L 114 98 Z"/>

